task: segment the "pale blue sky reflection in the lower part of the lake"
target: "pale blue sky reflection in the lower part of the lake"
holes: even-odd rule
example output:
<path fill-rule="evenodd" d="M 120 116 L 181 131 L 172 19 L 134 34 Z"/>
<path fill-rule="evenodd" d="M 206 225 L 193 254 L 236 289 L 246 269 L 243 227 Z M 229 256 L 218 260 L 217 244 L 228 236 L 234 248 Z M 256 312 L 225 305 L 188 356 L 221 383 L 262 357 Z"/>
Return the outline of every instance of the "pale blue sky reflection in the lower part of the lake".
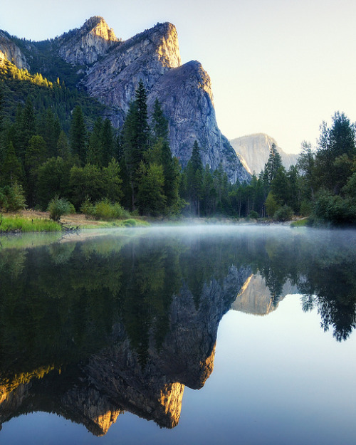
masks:
<path fill-rule="evenodd" d="M 0 440 L 6 445 L 351 445 L 355 342 L 355 334 L 336 342 L 324 333 L 316 310 L 303 313 L 299 295 L 288 295 L 264 317 L 230 311 L 219 325 L 214 372 L 203 389 L 185 389 L 173 430 L 126 413 L 98 439 L 84 426 L 39 413 L 4 424 Z"/>

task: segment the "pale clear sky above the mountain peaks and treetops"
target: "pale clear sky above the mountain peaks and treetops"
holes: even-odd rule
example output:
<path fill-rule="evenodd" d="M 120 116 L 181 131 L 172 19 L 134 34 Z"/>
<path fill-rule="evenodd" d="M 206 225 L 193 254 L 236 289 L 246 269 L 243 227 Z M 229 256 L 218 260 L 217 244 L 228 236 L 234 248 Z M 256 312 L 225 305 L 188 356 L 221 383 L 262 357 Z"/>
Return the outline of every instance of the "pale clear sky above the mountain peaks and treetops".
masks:
<path fill-rule="evenodd" d="M 286 152 L 316 145 L 336 111 L 356 121 L 356 1 L 17 0 L 0 28 L 40 41 L 103 16 L 123 40 L 169 21 L 182 63 L 209 73 L 223 134 L 264 132 Z"/>

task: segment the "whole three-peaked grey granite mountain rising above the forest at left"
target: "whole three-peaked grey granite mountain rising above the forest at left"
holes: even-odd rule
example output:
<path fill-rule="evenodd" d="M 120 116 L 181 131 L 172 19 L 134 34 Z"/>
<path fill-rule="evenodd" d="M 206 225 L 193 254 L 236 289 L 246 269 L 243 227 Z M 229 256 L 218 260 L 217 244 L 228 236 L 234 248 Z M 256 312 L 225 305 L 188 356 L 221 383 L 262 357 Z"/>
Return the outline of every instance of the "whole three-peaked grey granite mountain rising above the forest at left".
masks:
<path fill-rule="evenodd" d="M 182 65 L 172 23 L 157 23 L 122 41 L 102 17 L 95 16 L 81 28 L 48 41 L 30 42 L 2 32 L 0 51 L 0 61 L 2 53 L 18 68 L 53 81 L 59 77 L 66 85 L 85 90 L 108 106 L 115 127 L 124 122 L 142 80 L 149 111 L 156 98 L 162 103 L 171 150 L 183 166 L 197 140 L 204 164 L 216 169 L 221 163 L 231 182 L 250 178 L 217 126 L 209 75 L 197 61 Z"/>

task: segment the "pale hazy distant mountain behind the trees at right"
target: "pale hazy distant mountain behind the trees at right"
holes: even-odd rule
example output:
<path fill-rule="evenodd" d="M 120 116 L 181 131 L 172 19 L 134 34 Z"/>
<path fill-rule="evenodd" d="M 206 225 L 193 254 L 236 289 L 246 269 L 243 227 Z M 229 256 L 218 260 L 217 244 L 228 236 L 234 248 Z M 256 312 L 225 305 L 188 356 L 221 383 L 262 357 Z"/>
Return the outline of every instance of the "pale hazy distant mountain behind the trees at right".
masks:
<path fill-rule="evenodd" d="M 283 152 L 281 147 L 278 147 L 277 141 L 265 133 L 256 133 L 230 140 L 236 155 L 238 155 L 244 166 L 247 167 L 248 172 L 255 172 L 256 174 L 259 174 L 265 167 L 273 143 L 276 145 L 278 153 L 282 158 L 282 164 L 286 169 L 290 165 L 295 164 L 298 155 Z"/>

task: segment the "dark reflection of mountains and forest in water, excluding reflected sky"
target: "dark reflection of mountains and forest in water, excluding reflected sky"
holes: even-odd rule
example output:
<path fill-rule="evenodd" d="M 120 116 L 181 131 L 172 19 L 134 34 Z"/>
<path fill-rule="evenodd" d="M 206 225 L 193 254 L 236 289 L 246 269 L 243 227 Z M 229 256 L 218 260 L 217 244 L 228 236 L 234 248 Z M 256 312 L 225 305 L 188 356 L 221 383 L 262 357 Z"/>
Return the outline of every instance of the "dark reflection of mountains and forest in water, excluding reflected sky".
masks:
<path fill-rule="evenodd" d="M 130 411 L 176 426 L 184 386 L 201 388 L 213 370 L 231 305 L 262 315 L 301 293 L 303 310 L 318 308 L 323 329 L 347 339 L 352 232 L 219 230 L 4 239 L 0 424 L 56 412 L 103 435 Z"/>

